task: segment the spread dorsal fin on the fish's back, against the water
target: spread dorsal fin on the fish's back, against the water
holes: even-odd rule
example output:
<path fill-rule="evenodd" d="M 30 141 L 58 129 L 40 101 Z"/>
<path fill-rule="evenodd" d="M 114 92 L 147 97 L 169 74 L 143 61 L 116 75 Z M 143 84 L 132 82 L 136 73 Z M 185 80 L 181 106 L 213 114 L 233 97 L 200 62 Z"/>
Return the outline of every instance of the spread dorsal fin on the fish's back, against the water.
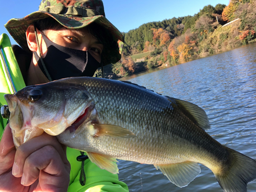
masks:
<path fill-rule="evenodd" d="M 175 98 L 165 96 L 170 102 L 177 105 L 177 107 L 186 115 L 194 124 L 203 130 L 210 129 L 210 123 L 205 111 L 193 103 L 182 101 Z"/>

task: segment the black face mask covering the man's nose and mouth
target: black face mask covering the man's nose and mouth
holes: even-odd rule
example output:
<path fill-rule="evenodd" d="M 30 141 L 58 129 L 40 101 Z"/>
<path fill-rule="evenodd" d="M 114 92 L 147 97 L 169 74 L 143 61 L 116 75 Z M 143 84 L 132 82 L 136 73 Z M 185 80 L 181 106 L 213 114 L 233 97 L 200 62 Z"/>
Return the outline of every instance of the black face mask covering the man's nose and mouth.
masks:
<path fill-rule="evenodd" d="M 88 51 L 58 45 L 50 41 L 44 34 L 42 34 L 42 38 L 47 46 L 47 54 L 43 60 L 52 80 L 67 77 L 92 77 L 96 69 L 100 67 L 100 63 Z M 48 77 L 37 53 L 34 52 L 34 55 L 40 69 Z"/>

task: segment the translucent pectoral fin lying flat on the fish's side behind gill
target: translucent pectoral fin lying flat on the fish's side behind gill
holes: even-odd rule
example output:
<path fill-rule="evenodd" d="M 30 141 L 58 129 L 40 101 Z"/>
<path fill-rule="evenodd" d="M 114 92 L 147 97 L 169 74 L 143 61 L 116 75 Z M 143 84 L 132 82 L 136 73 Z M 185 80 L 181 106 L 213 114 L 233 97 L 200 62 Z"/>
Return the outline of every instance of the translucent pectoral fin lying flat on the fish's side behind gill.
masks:
<path fill-rule="evenodd" d="M 97 130 L 95 136 L 109 136 L 109 137 L 123 137 L 123 138 L 130 138 L 136 137 L 136 135 L 125 128 L 116 125 L 109 125 L 109 124 L 92 124 L 94 129 Z"/>

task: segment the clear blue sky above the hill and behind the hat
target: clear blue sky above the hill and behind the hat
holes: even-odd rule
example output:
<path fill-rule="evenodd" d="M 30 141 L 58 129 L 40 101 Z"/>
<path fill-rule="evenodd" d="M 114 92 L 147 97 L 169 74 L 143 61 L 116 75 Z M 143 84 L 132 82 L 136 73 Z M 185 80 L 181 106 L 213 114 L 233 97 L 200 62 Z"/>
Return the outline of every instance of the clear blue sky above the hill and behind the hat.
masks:
<path fill-rule="evenodd" d="M 22 18 L 38 10 L 38 0 L 0 0 L 0 34 L 7 33 L 4 25 L 11 18 Z M 206 5 L 228 5 L 229 0 L 103 0 L 106 18 L 121 32 L 136 29 L 143 23 L 173 17 L 194 15 Z M 11 39 L 11 43 L 15 41 Z"/>

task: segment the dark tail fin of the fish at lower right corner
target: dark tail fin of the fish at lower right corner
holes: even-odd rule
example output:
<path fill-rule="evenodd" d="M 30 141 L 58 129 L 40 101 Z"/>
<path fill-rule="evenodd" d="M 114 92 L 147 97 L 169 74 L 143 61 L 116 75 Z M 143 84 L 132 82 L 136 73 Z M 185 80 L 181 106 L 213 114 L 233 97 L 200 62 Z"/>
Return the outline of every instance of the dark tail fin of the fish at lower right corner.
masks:
<path fill-rule="evenodd" d="M 246 192 L 247 183 L 256 179 L 256 161 L 232 149 L 229 152 L 229 169 L 215 177 L 225 192 Z"/>

